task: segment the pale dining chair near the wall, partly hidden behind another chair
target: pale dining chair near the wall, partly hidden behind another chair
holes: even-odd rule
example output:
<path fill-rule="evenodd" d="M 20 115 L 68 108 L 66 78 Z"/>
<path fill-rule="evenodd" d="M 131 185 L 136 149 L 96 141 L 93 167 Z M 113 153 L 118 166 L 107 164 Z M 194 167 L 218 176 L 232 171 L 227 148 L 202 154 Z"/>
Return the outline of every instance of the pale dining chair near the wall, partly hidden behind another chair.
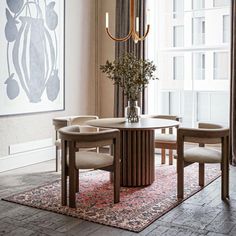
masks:
<path fill-rule="evenodd" d="M 55 141 L 55 146 L 56 146 L 56 172 L 59 171 L 59 164 L 60 164 L 60 149 L 61 149 L 61 140 L 58 138 L 58 130 L 62 127 L 68 126 L 68 125 L 80 125 L 83 127 L 83 132 L 90 132 L 93 131 L 96 128 L 94 127 L 88 127 L 86 125 L 86 122 L 89 120 L 93 119 L 98 119 L 98 116 L 94 115 L 80 115 L 80 116 L 68 116 L 63 119 L 63 117 L 55 118 L 53 119 L 53 124 L 55 127 L 55 132 L 56 132 L 56 141 Z"/>

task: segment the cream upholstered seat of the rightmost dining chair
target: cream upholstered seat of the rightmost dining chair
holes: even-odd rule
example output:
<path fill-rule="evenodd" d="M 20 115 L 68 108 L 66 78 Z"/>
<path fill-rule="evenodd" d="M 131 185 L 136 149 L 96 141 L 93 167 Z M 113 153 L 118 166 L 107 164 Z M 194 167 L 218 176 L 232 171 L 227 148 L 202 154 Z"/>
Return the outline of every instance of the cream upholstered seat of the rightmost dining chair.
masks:
<path fill-rule="evenodd" d="M 195 147 L 184 151 L 184 161 L 188 163 L 221 163 L 221 152 L 205 147 Z"/>

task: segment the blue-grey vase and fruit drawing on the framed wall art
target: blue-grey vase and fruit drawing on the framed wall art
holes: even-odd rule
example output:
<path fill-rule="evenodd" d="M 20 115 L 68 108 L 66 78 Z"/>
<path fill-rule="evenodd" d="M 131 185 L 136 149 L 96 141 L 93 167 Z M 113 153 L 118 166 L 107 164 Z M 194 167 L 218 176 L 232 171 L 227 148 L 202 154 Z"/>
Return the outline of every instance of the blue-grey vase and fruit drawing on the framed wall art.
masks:
<path fill-rule="evenodd" d="M 48 0 L 6 0 L 6 95 L 24 93 L 31 104 L 57 99 L 61 86 L 58 68 L 58 13 Z M 12 63 L 10 63 L 12 62 Z"/>

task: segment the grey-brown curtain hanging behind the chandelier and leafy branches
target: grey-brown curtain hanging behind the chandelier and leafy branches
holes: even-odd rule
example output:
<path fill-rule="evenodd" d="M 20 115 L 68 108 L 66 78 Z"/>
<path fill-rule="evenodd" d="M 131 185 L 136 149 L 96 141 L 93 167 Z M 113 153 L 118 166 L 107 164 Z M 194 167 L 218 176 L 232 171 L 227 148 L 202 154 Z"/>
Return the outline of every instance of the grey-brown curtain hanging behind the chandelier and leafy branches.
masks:
<path fill-rule="evenodd" d="M 146 0 L 137 0 L 135 1 L 136 6 L 136 16 L 139 17 L 139 32 L 143 35 L 145 31 L 145 15 L 146 15 Z M 124 37 L 129 32 L 129 0 L 116 0 L 116 37 Z M 116 42 L 116 59 L 122 56 L 123 54 L 129 52 L 134 53 L 138 58 L 145 58 L 145 41 L 134 43 L 133 39 L 129 39 L 126 42 Z M 122 92 L 122 89 L 119 86 L 115 86 L 114 93 L 114 116 L 115 117 L 124 117 L 124 108 L 127 106 L 127 101 Z M 142 113 L 145 113 L 145 91 L 143 91 L 139 106 L 141 107 Z"/>

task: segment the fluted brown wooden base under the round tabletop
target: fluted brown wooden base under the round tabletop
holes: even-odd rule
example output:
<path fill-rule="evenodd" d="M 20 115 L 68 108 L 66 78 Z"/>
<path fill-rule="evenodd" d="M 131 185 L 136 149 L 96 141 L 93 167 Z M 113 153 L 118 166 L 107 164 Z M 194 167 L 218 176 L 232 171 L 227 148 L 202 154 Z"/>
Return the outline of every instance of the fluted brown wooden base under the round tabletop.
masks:
<path fill-rule="evenodd" d="M 121 130 L 121 186 L 154 181 L 154 130 Z"/>

